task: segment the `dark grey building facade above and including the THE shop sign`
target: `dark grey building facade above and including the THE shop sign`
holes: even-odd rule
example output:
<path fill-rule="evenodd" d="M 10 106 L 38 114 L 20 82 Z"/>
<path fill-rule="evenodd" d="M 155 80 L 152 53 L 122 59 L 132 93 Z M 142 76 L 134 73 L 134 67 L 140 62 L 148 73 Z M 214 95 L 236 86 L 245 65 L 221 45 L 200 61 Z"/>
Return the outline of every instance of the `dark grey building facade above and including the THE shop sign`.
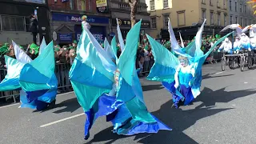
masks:
<path fill-rule="evenodd" d="M 111 32 L 117 34 L 117 20 L 122 32 L 122 37 L 126 38 L 126 34 L 130 30 L 130 6 L 125 0 L 110 1 L 110 17 L 111 17 Z M 145 0 L 138 2 L 138 10 L 136 19 L 142 19 L 141 34 L 144 35 L 150 31 L 150 14 L 147 12 Z"/>

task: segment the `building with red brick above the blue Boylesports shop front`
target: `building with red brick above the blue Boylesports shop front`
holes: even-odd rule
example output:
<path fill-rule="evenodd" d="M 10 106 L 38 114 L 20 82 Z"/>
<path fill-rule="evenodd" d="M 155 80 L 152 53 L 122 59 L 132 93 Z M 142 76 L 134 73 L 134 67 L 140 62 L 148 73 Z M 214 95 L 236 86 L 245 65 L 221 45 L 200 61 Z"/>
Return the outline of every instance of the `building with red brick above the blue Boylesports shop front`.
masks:
<path fill-rule="evenodd" d="M 65 45 L 79 41 L 82 34 L 82 15 L 87 16 L 90 32 L 98 42 L 110 33 L 110 14 L 98 13 L 93 0 L 48 0 L 51 35 L 54 43 Z"/>

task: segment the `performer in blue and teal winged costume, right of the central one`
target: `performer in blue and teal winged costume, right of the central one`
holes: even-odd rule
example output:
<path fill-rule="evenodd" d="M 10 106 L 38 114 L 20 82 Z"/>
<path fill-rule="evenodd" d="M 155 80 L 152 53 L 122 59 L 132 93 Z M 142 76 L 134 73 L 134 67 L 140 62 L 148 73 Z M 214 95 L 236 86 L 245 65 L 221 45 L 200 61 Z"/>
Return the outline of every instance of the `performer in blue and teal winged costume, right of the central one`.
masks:
<path fill-rule="evenodd" d="M 202 24 L 201 29 L 198 30 L 194 42 L 184 50 L 178 45 L 169 22 L 171 45 L 174 52 L 179 55 L 178 58 L 156 42 L 154 38 L 147 35 L 154 55 L 154 66 L 151 68 L 147 79 L 162 82 L 162 85 L 173 95 L 173 102 L 176 108 L 181 105 L 189 105 L 200 94 L 202 64 L 211 51 L 231 34 L 220 38 L 206 54 L 203 54 L 201 46 L 202 30 L 205 22 Z"/>

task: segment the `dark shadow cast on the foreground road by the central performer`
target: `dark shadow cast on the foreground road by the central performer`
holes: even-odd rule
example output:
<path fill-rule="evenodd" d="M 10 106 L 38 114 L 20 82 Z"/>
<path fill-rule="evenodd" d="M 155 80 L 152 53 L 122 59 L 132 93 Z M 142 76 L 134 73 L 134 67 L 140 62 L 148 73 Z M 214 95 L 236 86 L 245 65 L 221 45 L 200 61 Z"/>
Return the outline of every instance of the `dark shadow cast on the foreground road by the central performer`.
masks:
<path fill-rule="evenodd" d="M 201 109 L 193 109 L 193 110 L 181 110 L 171 108 L 172 102 L 166 102 L 163 104 L 158 111 L 154 111 L 152 114 L 162 120 L 167 126 L 170 126 L 173 130 L 166 131 L 161 130 L 158 134 L 137 134 L 135 135 L 134 141 L 139 143 L 158 143 L 158 144 L 166 144 L 166 143 L 190 143 L 195 144 L 192 138 L 183 133 L 184 130 L 193 126 L 195 122 L 197 122 L 201 118 L 206 118 L 214 114 L 218 114 L 224 110 L 230 109 L 211 109 L 212 107 L 206 107 Z M 113 134 L 111 130 L 113 127 L 109 127 L 106 130 L 102 130 L 98 134 L 94 135 L 94 138 L 90 142 L 86 142 L 87 144 L 93 142 L 102 142 L 109 141 L 106 143 L 113 143 L 118 139 L 127 138 L 127 136 L 122 136 L 118 134 Z"/>

